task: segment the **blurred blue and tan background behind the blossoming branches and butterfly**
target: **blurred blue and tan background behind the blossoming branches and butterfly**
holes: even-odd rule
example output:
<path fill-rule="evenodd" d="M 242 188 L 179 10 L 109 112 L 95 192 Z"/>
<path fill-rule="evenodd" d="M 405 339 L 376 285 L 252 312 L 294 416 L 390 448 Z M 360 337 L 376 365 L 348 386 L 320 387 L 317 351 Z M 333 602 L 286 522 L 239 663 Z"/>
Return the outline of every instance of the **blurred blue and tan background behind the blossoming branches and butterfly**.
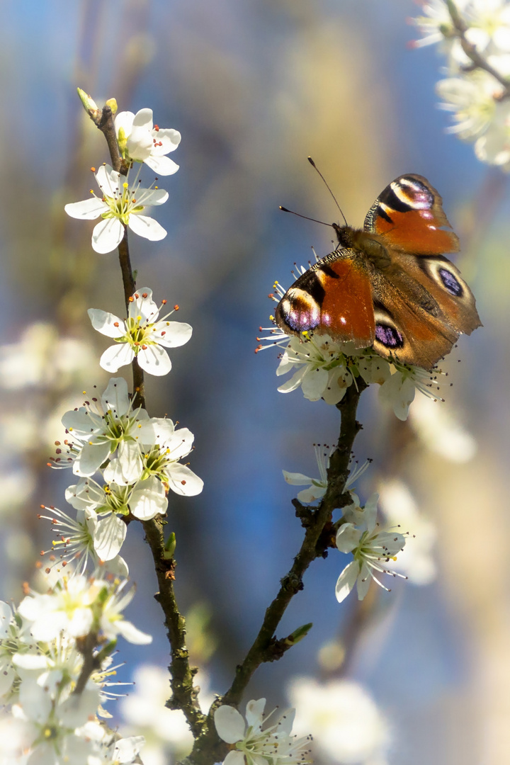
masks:
<path fill-rule="evenodd" d="M 73 478 L 46 467 L 60 417 L 89 386 L 106 385 L 98 360 L 108 340 L 86 308 L 124 315 L 115 253 L 93 252 L 93 223 L 63 212 L 87 197 L 89 168 L 108 158 L 76 86 L 100 105 L 150 107 L 183 136 L 171 155 L 180 171 L 160 179 L 170 200 L 154 215 L 167 238 L 132 237 L 131 249 L 138 285 L 178 303 L 178 319 L 193 325 L 171 374 L 148 378 L 147 396 L 151 415 L 193 431 L 190 467 L 205 481 L 200 496 L 170 497 L 168 519 L 208 698 L 228 688 L 300 545 L 296 490 L 281 470 L 317 476 L 312 444 L 331 444 L 339 429 L 334 407 L 277 391 L 276 351 L 253 352 L 274 311 L 274 279 L 289 286 L 310 246 L 332 249 L 330 229 L 278 205 L 338 219 L 307 155 L 355 226 L 389 181 L 414 172 L 440 190 L 460 236 L 456 262 L 484 327 L 443 364 L 446 402 L 421 397 L 401 423 L 370 389 L 359 415 L 356 457 L 373 459 L 359 493 L 378 490 L 385 513 L 416 534 L 411 581 L 391 581 L 391 593 L 371 592 L 362 607 L 354 595 L 339 605 L 334 584 L 348 559 L 330 551 L 307 572 L 279 636 L 309 621 L 313 630 L 259 669 L 245 698 L 297 705 L 320 763 L 492 765 L 510 744 L 510 196 L 500 171 L 445 135 L 440 54 L 408 46 L 417 10 L 408 0 L 2 3 L 2 597 L 18 601 L 50 549 L 41 503 L 67 509 Z M 148 168 L 143 177 L 152 181 Z M 109 711 L 113 724 L 145 726 L 145 762 L 160 765 L 185 750 L 186 731 L 169 711 L 157 726 L 155 711 L 144 721 L 143 694 L 168 695 L 168 646 L 134 523 L 122 555 L 138 583 L 128 617 L 154 643 L 119 645 L 119 679 L 138 671 L 138 684 Z"/>

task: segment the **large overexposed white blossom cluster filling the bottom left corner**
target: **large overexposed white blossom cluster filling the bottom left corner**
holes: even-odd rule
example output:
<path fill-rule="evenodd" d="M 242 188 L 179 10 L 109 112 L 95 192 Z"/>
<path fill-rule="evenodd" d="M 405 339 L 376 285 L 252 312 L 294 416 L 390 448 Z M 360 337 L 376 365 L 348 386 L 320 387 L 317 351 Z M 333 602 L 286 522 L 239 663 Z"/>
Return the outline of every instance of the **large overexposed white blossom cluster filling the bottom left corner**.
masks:
<path fill-rule="evenodd" d="M 102 705 L 112 695 L 117 636 L 152 640 L 122 616 L 133 594 L 127 580 L 75 572 L 43 594 L 31 591 L 18 609 L 0 601 L 2 762 L 135 761 L 144 738 L 115 736 L 99 720 L 109 717 Z"/>

